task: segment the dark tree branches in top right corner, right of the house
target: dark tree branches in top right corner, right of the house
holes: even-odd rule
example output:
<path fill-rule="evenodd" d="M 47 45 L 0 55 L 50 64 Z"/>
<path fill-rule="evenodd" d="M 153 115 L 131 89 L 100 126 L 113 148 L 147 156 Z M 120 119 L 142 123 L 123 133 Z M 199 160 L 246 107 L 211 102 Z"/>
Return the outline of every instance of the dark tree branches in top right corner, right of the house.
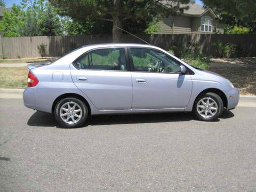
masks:
<path fill-rule="evenodd" d="M 234 26 L 246 27 L 250 33 L 256 33 L 255 0 L 202 0 L 206 7 L 213 9 L 223 22 Z"/>

